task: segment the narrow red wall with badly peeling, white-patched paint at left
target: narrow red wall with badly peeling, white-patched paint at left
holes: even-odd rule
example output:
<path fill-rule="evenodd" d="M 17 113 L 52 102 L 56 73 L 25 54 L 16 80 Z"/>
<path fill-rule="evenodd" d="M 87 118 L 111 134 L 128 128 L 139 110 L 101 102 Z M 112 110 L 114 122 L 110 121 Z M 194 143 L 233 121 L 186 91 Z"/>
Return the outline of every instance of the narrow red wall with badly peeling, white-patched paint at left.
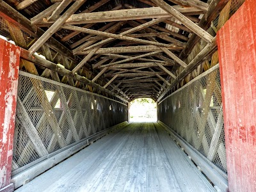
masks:
<path fill-rule="evenodd" d="M 10 184 L 20 48 L 0 39 L 0 191 Z"/>

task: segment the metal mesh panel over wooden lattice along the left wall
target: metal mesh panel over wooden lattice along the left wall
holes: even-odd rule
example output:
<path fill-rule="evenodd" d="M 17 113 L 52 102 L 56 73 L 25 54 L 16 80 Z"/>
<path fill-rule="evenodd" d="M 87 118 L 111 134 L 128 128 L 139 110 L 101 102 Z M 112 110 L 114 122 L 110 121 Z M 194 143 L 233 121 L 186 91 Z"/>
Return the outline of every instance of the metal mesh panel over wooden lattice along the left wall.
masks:
<path fill-rule="evenodd" d="M 20 72 L 12 168 L 126 120 L 121 102 Z"/>

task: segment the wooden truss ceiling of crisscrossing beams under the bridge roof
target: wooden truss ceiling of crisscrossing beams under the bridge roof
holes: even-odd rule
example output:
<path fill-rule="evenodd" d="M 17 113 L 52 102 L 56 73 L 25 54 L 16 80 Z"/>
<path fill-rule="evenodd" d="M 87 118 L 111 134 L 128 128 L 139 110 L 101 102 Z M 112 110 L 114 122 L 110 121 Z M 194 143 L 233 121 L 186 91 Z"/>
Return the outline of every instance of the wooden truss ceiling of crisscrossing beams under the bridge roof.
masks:
<path fill-rule="evenodd" d="M 70 72 L 83 76 L 80 70 L 86 66 L 93 74 L 86 77 L 90 80 L 86 80 L 87 84 L 125 100 L 138 97 L 160 100 L 210 56 L 216 50 L 216 42 L 206 30 L 227 3 L 224 0 L 4 1 L 27 17 L 30 26 L 44 31 L 29 45 L 29 56 L 54 38 L 59 43 L 55 47 L 67 47 L 78 60 Z M 200 39 L 206 42 L 206 48 L 186 63 Z M 99 78 L 105 83 L 100 84 Z"/>

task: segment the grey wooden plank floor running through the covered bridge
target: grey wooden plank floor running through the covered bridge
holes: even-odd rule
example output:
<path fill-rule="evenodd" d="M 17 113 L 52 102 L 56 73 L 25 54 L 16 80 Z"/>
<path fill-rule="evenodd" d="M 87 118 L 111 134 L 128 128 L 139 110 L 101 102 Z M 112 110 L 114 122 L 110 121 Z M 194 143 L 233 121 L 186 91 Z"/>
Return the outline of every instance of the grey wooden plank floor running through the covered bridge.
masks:
<path fill-rule="evenodd" d="M 155 123 L 132 123 L 16 190 L 215 191 Z"/>

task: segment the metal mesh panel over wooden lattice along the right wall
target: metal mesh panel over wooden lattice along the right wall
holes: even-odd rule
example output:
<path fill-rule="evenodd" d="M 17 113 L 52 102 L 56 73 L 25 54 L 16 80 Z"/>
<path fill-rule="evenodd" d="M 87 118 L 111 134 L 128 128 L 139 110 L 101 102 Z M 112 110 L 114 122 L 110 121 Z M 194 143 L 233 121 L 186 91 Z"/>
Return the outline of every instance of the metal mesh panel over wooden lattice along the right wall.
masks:
<path fill-rule="evenodd" d="M 205 74 L 160 102 L 158 118 L 227 172 L 220 72 Z"/>

